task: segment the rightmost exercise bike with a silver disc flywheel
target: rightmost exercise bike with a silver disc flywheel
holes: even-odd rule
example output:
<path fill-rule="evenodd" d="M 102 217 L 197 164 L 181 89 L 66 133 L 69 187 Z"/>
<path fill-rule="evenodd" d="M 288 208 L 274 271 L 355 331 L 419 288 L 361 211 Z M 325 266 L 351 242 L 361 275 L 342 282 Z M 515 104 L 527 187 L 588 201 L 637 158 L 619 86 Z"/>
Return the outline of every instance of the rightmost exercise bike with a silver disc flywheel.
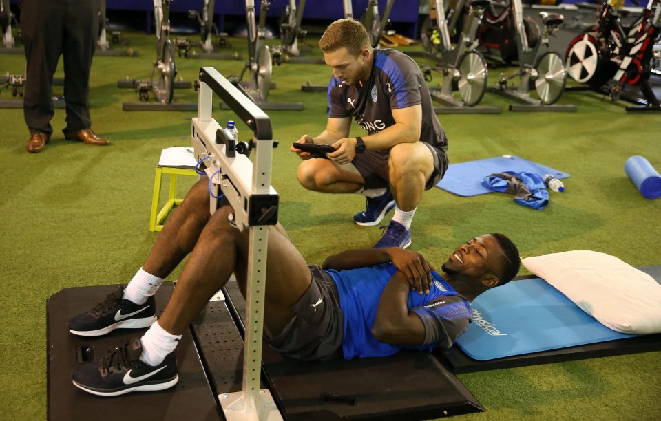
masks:
<path fill-rule="evenodd" d="M 511 0 L 501 13 L 496 12 L 492 1 L 487 2 L 485 20 L 478 31 L 479 44 L 499 50 L 504 63 L 516 59 L 519 67 L 513 74 L 501 73 L 498 84 L 489 91 L 521 102 L 510 105 L 510 111 L 576 111 L 574 105 L 555 104 L 565 91 L 567 69 L 560 54 L 549 50 L 549 36 L 558 30 L 564 17 L 547 12 L 540 12 L 540 17 L 542 31 L 532 19 L 523 19 L 521 0 Z M 519 79 L 518 87 L 508 86 L 513 78 Z M 530 96 L 531 85 L 538 99 Z"/>

